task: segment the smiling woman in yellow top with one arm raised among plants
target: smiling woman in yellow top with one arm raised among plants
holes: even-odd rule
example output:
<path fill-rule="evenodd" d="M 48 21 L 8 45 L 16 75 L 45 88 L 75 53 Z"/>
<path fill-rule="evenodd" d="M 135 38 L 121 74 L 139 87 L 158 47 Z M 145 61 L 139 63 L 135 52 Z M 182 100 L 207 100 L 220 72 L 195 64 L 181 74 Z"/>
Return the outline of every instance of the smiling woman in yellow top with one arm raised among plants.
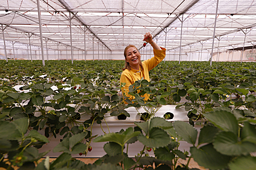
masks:
<path fill-rule="evenodd" d="M 122 87 L 122 93 L 125 96 L 131 97 L 129 92 L 129 86 L 134 84 L 135 81 L 140 80 L 141 78 L 150 81 L 149 71 L 152 70 L 158 63 L 165 59 L 165 48 L 159 47 L 152 39 L 152 34 L 147 32 L 144 35 L 143 41 L 150 43 L 154 48 L 154 56 L 151 59 L 141 62 L 140 61 L 140 52 L 134 45 L 128 45 L 125 47 L 125 68 L 123 68 L 122 75 L 120 77 L 120 85 L 126 83 L 125 87 Z M 145 100 L 148 99 L 148 96 L 145 95 Z"/>

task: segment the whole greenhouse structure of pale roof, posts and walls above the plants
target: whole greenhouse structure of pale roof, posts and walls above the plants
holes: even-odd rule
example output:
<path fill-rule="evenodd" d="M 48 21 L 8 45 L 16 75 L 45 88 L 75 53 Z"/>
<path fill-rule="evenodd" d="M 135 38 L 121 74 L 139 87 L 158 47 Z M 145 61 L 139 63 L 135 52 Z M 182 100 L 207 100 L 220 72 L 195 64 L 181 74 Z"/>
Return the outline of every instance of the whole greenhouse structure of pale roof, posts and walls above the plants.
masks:
<path fill-rule="evenodd" d="M 151 32 L 167 61 L 255 61 L 254 1 L 6 0 L 0 12 L 1 59 L 120 60 L 129 43 L 147 59 Z"/>

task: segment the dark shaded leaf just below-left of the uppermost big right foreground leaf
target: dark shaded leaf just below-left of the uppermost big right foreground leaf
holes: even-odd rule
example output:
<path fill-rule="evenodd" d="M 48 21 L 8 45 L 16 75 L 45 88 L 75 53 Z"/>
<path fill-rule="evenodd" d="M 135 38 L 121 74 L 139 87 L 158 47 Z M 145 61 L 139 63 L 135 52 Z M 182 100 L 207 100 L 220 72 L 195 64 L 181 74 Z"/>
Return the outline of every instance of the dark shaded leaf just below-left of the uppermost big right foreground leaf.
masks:
<path fill-rule="evenodd" d="M 218 132 L 219 129 L 214 126 L 204 126 L 203 128 L 201 128 L 199 134 L 199 145 L 203 143 L 213 142 Z"/>

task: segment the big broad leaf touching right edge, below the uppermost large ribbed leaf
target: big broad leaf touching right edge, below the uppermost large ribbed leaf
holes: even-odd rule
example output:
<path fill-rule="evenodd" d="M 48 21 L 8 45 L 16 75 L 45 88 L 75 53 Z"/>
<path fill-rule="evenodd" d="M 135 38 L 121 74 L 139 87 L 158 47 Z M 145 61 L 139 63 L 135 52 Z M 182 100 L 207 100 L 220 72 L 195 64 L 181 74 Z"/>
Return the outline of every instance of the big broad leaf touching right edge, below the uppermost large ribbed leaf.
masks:
<path fill-rule="evenodd" d="M 230 131 L 222 131 L 213 142 L 214 149 L 227 156 L 246 155 L 256 151 L 256 145 L 247 141 L 238 141 Z"/>

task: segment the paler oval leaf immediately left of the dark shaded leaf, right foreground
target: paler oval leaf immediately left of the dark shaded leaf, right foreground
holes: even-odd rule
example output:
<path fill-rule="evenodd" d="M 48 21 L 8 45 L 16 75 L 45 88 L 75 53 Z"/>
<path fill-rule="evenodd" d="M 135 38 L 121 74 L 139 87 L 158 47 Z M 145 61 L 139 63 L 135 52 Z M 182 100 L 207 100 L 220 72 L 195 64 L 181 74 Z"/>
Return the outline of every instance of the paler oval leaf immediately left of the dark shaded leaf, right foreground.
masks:
<path fill-rule="evenodd" d="M 194 127 L 182 121 L 175 121 L 173 125 L 176 133 L 181 136 L 181 138 L 183 138 L 186 142 L 195 145 L 198 132 L 196 129 L 194 129 Z"/>

